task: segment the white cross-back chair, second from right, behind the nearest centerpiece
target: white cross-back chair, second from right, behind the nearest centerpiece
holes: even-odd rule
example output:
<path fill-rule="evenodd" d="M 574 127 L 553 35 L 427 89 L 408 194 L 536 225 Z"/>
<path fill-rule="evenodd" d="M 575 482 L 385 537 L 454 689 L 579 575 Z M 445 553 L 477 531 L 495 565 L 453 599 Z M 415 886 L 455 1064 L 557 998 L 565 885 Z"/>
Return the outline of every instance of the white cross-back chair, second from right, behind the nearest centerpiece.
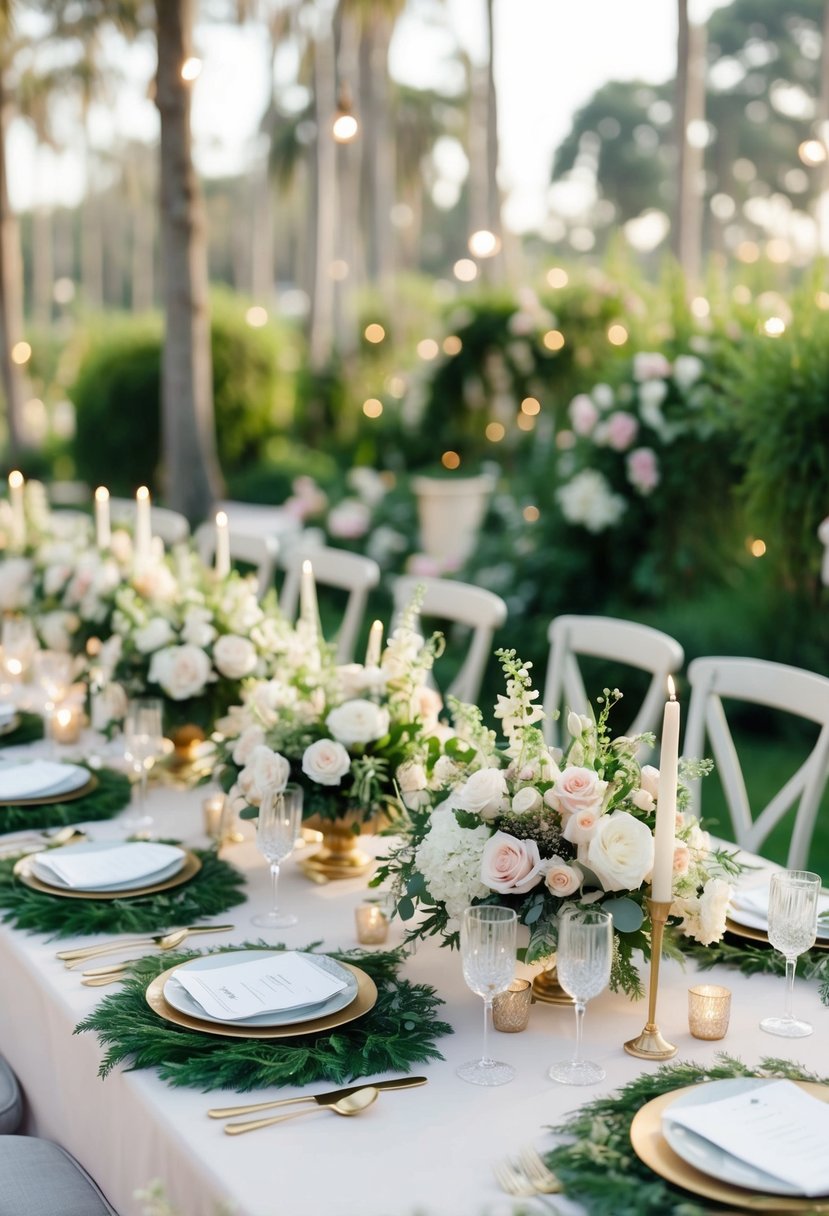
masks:
<path fill-rule="evenodd" d="M 556 617 L 549 623 L 547 638 L 549 657 L 545 681 L 543 705 L 547 717 L 543 732 L 551 747 L 562 747 L 562 730 L 559 721 L 553 719 L 553 711 L 573 709 L 576 714 L 590 714 L 596 705 L 596 697 L 607 685 L 605 681 L 588 696 L 579 663 L 581 657 L 620 663 L 650 672 L 650 683 L 636 715 L 632 720 L 626 716 L 625 734 L 658 730 L 659 713 L 667 696 L 667 677 L 679 670 L 684 659 L 684 652 L 675 638 L 659 629 L 632 620 L 575 615 Z M 624 688 L 621 691 L 625 692 Z M 626 704 L 622 700 L 620 710 L 624 711 Z"/>

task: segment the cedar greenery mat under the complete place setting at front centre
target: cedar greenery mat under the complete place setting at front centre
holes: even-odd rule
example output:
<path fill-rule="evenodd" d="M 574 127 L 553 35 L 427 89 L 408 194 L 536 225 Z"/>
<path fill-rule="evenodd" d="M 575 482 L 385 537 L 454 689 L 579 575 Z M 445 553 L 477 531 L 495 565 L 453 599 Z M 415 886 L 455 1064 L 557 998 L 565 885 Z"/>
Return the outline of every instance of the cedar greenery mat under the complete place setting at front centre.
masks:
<path fill-rule="evenodd" d="M 317 945 L 306 948 L 314 950 Z M 264 946 L 260 941 L 226 948 L 261 950 Z M 226 952 L 226 948 L 218 952 Z M 284 950 L 284 946 L 276 948 Z M 416 1064 L 442 1059 L 434 1040 L 452 1034 L 447 1023 L 435 1019 L 442 1004 L 435 990 L 397 975 L 404 961 L 400 948 L 331 955 L 360 967 L 371 975 L 378 991 L 373 1009 L 331 1030 L 284 1040 L 222 1038 L 164 1021 L 147 1004 L 147 985 L 168 967 L 199 957 L 203 956 L 190 952 L 136 959 L 120 991 L 105 997 L 94 1013 L 75 1026 L 75 1034 L 94 1030 L 106 1047 L 98 1069 L 101 1076 L 129 1060 L 130 1068 L 154 1068 L 163 1081 L 202 1092 L 221 1088 L 248 1092 L 269 1085 L 318 1081 L 345 1085 L 374 1073 L 408 1073 Z"/>

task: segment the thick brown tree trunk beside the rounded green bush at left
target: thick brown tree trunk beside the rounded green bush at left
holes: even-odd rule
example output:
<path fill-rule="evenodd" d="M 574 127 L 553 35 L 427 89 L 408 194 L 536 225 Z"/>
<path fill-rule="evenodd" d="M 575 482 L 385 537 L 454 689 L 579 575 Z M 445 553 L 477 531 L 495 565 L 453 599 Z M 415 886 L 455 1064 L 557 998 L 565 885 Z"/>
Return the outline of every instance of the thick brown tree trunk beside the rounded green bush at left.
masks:
<path fill-rule="evenodd" d="M 162 120 L 160 236 L 167 319 L 162 355 L 162 452 L 165 497 L 191 522 L 221 492 L 213 412 L 210 309 L 204 207 L 193 170 L 190 85 L 194 0 L 156 0 Z"/>

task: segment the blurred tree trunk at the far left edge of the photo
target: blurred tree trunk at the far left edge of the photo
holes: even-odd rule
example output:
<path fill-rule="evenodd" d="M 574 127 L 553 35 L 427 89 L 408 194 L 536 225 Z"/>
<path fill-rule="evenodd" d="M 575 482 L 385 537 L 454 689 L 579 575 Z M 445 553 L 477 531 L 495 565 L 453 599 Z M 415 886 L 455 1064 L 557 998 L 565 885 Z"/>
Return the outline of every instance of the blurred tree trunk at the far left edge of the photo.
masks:
<path fill-rule="evenodd" d="M 21 454 L 23 377 L 11 349 L 23 332 L 23 266 L 17 216 L 9 201 L 6 130 L 9 105 L 0 74 L 0 379 L 6 398 L 7 456 L 16 463 Z"/>

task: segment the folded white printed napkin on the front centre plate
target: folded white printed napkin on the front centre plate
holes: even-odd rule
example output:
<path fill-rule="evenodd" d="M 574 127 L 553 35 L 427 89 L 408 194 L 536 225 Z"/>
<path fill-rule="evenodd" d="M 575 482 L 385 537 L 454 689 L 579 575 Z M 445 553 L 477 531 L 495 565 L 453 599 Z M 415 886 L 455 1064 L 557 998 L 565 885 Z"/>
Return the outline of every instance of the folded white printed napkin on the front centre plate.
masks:
<path fill-rule="evenodd" d="M 320 1004 L 345 987 L 295 951 L 227 967 L 180 967 L 175 978 L 209 1017 L 222 1021 Z"/>

